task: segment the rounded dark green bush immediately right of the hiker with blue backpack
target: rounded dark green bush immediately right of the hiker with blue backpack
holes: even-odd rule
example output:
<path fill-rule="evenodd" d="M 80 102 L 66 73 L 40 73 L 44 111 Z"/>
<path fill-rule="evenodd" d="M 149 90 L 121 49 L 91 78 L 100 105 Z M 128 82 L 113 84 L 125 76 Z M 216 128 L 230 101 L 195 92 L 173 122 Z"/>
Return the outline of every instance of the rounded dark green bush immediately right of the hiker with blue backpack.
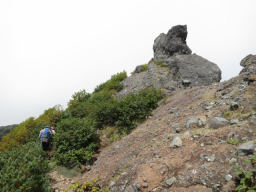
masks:
<path fill-rule="evenodd" d="M 57 124 L 54 158 L 58 165 L 73 167 L 89 161 L 99 146 L 94 122 L 89 118 L 64 119 Z"/>

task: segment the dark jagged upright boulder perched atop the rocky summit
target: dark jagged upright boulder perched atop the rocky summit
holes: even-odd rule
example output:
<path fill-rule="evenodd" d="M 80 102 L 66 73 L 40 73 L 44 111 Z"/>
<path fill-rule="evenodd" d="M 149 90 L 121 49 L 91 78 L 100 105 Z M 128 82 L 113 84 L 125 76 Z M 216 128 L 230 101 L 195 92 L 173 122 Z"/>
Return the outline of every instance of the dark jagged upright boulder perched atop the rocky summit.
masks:
<path fill-rule="evenodd" d="M 173 55 L 191 54 L 186 39 L 186 25 L 174 26 L 167 34 L 161 33 L 154 41 L 154 59 L 163 60 Z"/>

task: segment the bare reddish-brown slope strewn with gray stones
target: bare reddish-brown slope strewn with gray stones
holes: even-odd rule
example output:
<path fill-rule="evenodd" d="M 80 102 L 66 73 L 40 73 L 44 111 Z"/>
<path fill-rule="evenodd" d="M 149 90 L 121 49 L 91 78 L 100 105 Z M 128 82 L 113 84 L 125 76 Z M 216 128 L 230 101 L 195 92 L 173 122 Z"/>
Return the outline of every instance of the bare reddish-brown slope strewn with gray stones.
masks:
<path fill-rule="evenodd" d="M 253 150 L 240 149 L 256 134 L 252 76 L 244 72 L 166 96 L 131 134 L 102 149 L 89 171 L 52 187 L 97 178 L 102 188 L 116 192 L 232 191 L 233 165 L 245 166 L 255 148 L 253 142 Z"/>

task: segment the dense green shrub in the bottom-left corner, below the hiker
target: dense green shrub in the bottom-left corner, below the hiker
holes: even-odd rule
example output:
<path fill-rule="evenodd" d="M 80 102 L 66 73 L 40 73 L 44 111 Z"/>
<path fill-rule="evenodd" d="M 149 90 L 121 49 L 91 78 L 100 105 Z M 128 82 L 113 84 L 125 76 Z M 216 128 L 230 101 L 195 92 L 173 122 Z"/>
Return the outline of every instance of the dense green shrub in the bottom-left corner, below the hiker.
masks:
<path fill-rule="evenodd" d="M 31 142 L 0 152 L 1 192 L 47 192 L 49 171 L 46 153 L 39 143 Z"/>

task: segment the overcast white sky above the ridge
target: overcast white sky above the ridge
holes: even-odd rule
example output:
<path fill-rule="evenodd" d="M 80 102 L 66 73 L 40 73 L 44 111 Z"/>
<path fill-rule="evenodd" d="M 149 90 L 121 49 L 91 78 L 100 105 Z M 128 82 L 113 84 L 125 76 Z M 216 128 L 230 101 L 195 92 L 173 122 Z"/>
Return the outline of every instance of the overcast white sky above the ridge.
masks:
<path fill-rule="evenodd" d="M 153 41 L 187 24 L 187 44 L 222 79 L 256 54 L 255 0 L 0 0 L 0 126 L 37 117 L 153 57 Z"/>

